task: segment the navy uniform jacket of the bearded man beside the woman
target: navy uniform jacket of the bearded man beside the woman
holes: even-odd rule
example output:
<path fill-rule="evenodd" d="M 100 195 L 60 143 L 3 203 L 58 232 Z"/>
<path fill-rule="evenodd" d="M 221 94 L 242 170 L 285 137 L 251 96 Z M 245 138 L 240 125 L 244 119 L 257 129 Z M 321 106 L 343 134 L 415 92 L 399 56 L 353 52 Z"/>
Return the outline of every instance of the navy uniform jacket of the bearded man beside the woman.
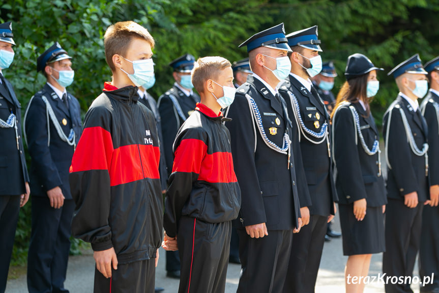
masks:
<path fill-rule="evenodd" d="M 316 90 L 311 86 L 310 93 L 294 76 L 288 75 L 279 92 L 287 103 L 288 115 L 294 117 L 291 100 L 288 91 L 296 96 L 299 102 L 300 115 L 305 126 L 315 132 L 320 132 L 321 126 L 327 122 L 329 130 L 329 117 L 325 105 L 321 102 Z M 318 122 L 316 122 L 318 121 Z M 302 127 L 302 126 L 299 126 Z M 300 129 L 299 129 L 300 131 Z M 332 162 L 328 155 L 327 140 L 320 144 L 314 144 L 300 134 L 302 161 L 308 183 L 310 202 L 303 200 L 299 194 L 301 207 L 308 206 L 311 215 L 329 216 L 334 215 L 334 201 L 337 201 L 337 192 L 332 173 Z M 312 141 L 321 141 L 309 134 L 306 136 Z"/>

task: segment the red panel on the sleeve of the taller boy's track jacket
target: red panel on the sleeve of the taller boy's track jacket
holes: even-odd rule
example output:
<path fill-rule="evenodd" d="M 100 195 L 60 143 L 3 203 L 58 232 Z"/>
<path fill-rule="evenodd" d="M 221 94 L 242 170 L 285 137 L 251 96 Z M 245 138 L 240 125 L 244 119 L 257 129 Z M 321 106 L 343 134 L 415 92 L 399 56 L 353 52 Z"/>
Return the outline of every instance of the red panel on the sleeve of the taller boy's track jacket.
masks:
<path fill-rule="evenodd" d="M 100 126 L 82 131 L 70 166 L 70 173 L 89 170 L 108 170 L 113 153 L 111 134 Z"/>

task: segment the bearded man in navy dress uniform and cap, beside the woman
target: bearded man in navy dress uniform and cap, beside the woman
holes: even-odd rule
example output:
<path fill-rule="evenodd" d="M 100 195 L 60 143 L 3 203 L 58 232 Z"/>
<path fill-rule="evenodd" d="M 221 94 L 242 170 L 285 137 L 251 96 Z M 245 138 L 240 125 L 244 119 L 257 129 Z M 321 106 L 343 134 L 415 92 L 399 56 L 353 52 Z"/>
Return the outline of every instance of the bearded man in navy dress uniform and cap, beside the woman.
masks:
<path fill-rule="evenodd" d="M 299 141 L 309 193 L 300 193 L 300 212 L 306 225 L 295 235 L 284 292 L 314 292 L 325 242 L 327 223 L 335 215 L 338 200 L 332 174 L 329 116 L 310 78 L 321 71 L 317 26 L 286 36 L 291 72 L 280 87 L 288 115 L 299 123 Z"/>

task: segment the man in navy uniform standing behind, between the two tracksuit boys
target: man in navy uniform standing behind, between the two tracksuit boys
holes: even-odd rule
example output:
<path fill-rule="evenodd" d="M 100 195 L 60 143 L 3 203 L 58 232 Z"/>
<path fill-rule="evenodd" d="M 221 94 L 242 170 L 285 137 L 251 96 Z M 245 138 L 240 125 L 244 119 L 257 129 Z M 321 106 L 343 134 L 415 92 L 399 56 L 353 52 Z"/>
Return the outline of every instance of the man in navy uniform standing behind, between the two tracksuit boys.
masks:
<path fill-rule="evenodd" d="M 172 172 L 174 161 L 172 145 L 177 131 L 189 115 L 194 111 L 195 104 L 200 97 L 193 92 L 191 70 L 194 68 L 195 58 L 186 54 L 173 60 L 169 66 L 173 68 L 174 85 L 159 97 L 157 103 L 159 115 L 162 119 L 162 137 L 167 175 Z M 178 251 L 166 251 L 167 276 L 180 279 L 180 258 Z"/>

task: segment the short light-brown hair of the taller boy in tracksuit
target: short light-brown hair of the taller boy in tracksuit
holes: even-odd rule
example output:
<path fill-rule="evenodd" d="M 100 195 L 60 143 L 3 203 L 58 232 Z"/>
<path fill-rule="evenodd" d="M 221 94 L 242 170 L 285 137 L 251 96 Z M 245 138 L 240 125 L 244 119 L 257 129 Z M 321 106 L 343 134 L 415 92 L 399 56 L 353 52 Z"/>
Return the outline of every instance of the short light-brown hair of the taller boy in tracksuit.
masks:
<path fill-rule="evenodd" d="M 116 70 L 113 55 L 125 56 L 133 38 L 144 39 L 154 48 L 155 41 L 147 29 L 134 21 L 119 21 L 110 25 L 104 35 L 105 60 L 111 71 Z"/>

